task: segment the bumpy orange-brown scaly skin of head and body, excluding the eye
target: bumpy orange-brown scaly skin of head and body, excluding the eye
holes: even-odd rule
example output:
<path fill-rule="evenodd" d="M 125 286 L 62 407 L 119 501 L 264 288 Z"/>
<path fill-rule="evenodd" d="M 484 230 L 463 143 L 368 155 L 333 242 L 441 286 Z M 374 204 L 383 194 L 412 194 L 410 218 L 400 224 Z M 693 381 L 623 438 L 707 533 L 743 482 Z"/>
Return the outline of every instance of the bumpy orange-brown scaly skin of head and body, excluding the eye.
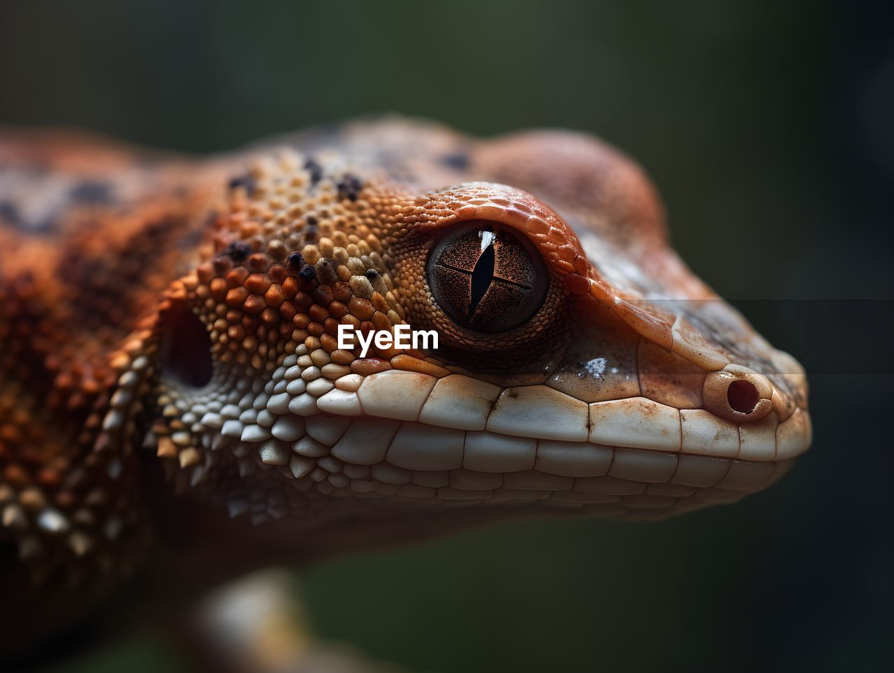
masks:
<path fill-rule="evenodd" d="M 543 257 L 527 322 L 470 332 L 434 299 L 429 253 L 468 223 Z M 385 119 L 187 161 L 9 130 L 0 250 L 6 648 L 171 540 L 236 572 L 493 517 L 663 517 L 810 443 L 797 362 L 679 261 L 637 165 L 574 133 Z M 339 324 L 440 348 L 361 358 Z"/>

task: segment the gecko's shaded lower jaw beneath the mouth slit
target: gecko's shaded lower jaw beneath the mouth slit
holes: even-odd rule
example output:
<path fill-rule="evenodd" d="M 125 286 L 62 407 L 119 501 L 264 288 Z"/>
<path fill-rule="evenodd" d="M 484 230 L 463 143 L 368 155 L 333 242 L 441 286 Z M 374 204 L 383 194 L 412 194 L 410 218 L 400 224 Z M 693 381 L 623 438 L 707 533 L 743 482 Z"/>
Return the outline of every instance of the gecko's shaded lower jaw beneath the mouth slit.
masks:
<path fill-rule="evenodd" d="M 454 431 L 463 435 L 460 447 L 441 442 L 422 448 L 414 438 L 420 431 L 430 433 L 430 426 L 342 418 L 349 424 L 335 439 L 335 418 L 308 418 L 305 436 L 291 445 L 220 435 L 223 442 L 215 450 L 232 450 L 242 476 L 279 472 L 311 496 L 467 505 L 536 501 L 590 515 L 637 518 L 738 501 L 777 481 L 795 462 L 524 440 L 486 431 Z M 359 446 L 358 437 L 367 444 Z M 384 456 L 368 451 L 386 442 Z M 459 462 L 447 462 L 451 450 Z"/>

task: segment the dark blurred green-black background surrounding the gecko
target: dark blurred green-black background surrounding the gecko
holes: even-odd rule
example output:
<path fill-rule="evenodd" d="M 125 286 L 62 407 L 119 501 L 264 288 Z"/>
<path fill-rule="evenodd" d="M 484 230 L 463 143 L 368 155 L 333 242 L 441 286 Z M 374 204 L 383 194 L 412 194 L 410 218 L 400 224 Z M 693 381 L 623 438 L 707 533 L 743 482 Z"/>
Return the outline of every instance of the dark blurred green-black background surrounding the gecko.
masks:
<path fill-rule="evenodd" d="M 0 4 L 0 121 L 190 151 L 378 111 L 590 130 L 675 244 L 812 374 L 814 448 L 659 524 L 540 521 L 313 568 L 319 632 L 438 671 L 885 669 L 890 15 L 816 2 Z M 135 636 L 76 669 L 177 664 Z"/>

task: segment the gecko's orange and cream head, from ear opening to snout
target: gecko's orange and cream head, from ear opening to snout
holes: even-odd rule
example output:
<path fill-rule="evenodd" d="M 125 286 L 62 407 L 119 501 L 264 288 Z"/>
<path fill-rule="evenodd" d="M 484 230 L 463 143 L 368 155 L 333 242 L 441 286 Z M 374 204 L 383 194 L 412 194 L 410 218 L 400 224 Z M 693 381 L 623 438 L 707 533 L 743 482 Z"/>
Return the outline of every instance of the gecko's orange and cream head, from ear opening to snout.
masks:
<path fill-rule="evenodd" d="M 797 363 L 659 236 L 548 189 L 290 153 L 250 174 L 149 358 L 145 445 L 233 517 L 662 517 L 759 490 L 809 444 Z"/>

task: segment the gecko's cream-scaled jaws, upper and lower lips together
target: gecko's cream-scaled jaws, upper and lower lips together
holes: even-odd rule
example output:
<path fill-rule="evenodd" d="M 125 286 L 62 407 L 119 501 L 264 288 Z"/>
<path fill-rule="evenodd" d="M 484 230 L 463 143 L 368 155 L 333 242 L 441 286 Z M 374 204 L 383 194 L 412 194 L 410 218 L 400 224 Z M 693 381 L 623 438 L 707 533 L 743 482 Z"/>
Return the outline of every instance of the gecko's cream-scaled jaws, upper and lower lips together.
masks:
<path fill-rule="evenodd" d="M 512 385 L 434 364 L 336 376 L 321 358 L 301 346 L 266 383 L 223 370 L 191 396 L 204 411 L 192 430 L 208 437 L 196 470 L 222 454 L 239 466 L 232 515 L 259 522 L 328 496 L 663 517 L 763 489 L 809 443 L 797 415 L 734 425 L 642 395 L 586 401 L 587 377 L 589 397 L 605 392 L 590 361 L 571 378 L 560 366 L 544 383 Z"/>

